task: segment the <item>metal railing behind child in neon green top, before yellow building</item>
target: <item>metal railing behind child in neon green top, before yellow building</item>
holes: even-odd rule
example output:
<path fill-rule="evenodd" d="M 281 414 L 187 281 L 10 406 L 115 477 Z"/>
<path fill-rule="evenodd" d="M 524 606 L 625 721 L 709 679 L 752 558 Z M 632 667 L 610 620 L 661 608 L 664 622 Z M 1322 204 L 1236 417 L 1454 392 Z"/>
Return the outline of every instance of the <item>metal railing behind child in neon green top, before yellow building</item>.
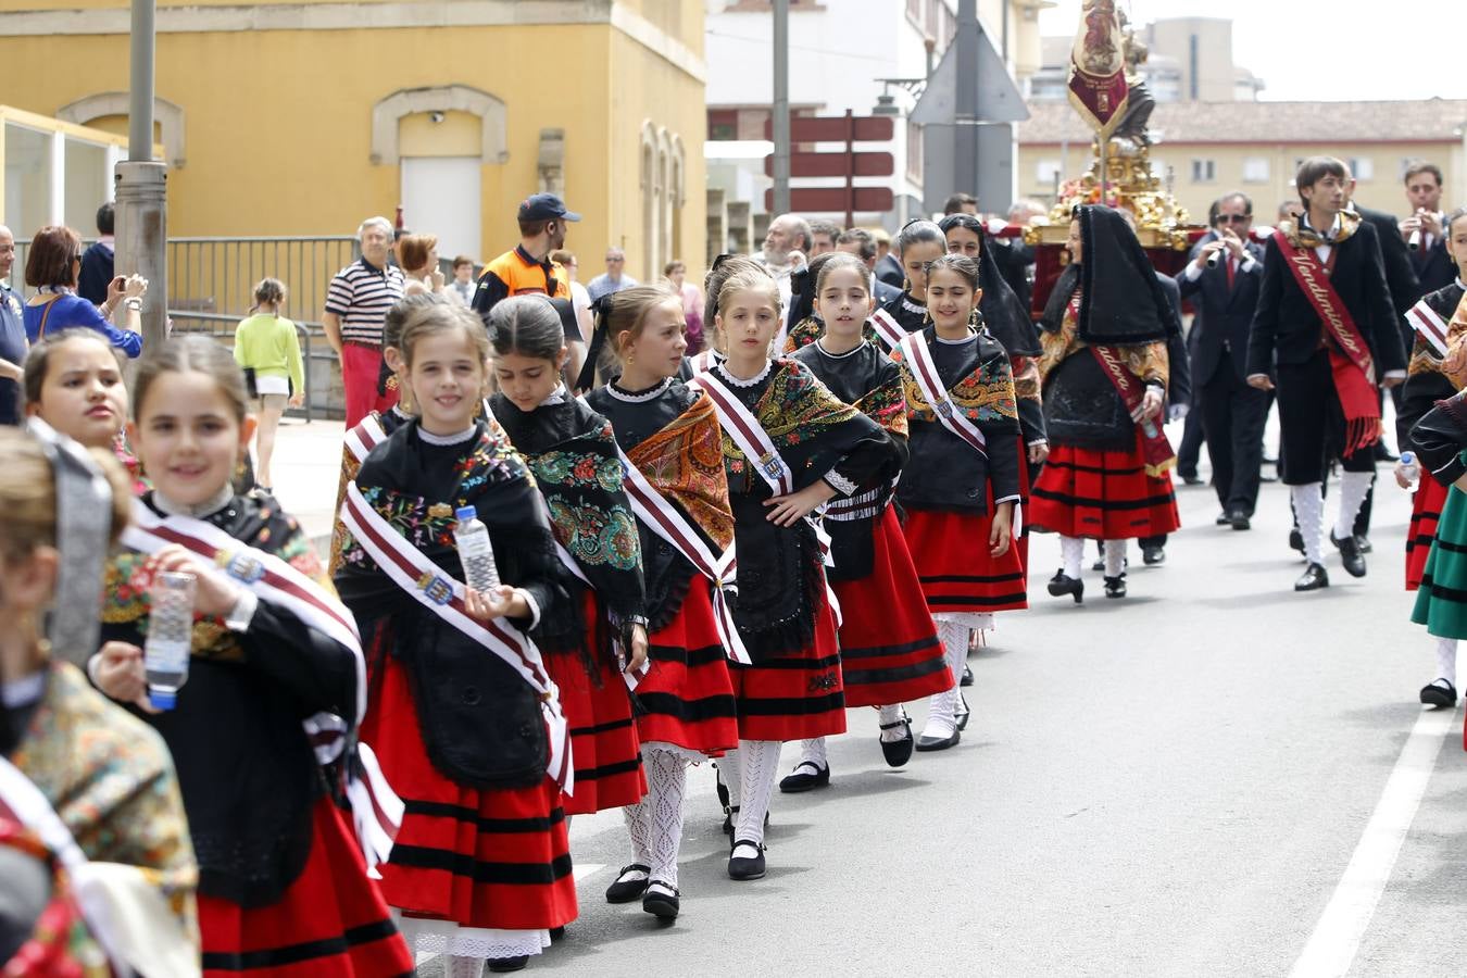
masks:
<path fill-rule="evenodd" d="M 88 242 L 89 243 L 89 242 Z M 343 413 L 340 368 L 320 315 L 332 277 L 359 254 L 351 235 L 279 238 L 170 238 L 169 317 L 176 333 L 213 336 L 233 346 L 235 326 L 249 315 L 261 279 L 279 279 L 288 298 L 280 314 L 293 320 L 305 365 L 305 403 L 293 416 Z M 12 284 L 23 282 L 29 239 L 16 242 Z"/>

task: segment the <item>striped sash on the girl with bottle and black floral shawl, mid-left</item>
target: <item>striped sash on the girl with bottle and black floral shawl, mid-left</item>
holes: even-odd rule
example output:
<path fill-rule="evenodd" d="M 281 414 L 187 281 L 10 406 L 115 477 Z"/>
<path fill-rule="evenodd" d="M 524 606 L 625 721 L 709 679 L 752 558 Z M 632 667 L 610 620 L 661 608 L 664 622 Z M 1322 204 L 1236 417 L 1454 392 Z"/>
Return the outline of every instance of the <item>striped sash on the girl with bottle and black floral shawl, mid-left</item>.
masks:
<path fill-rule="evenodd" d="M 392 523 L 367 503 L 355 482 L 346 485 L 346 501 L 342 503 L 340 516 L 356 543 L 371 554 L 393 584 L 452 628 L 497 655 L 535 692 L 550 733 L 550 762 L 546 771 L 566 795 L 571 795 L 575 787 L 571 730 L 560 713 L 559 689 L 546 672 L 534 642 L 503 619 L 494 619 L 487 625 L 471 619 L 464 611 L 464 584 L 449 578 L 442 567 L 403 540 Z"/>

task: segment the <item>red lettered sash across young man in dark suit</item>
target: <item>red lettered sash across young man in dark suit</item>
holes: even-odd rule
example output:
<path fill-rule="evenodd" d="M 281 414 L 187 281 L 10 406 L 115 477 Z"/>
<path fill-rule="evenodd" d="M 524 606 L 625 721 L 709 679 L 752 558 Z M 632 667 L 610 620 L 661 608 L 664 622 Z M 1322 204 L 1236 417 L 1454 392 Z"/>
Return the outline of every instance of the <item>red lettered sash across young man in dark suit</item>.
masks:
<path fill-rule="evenodd" d="M 1273 232 L 1279 254 L 1294 273 L 1294 282 L 1323 320 L 1329 337 L 1329 368 L 1335 377 L 1335 393 L 1345 411 L 1345 449 L 1353 455 L 1380 440 L 1380 405 L 1376 400 L 1375 362 L 1360 327 L 1350 318 L 1350 309 L 1329 283 L 1329 270 L 1313 248 L 1295 248 L 1282 230 Z M 1336 245 L 1338 248 L 1338 245 Z"/>

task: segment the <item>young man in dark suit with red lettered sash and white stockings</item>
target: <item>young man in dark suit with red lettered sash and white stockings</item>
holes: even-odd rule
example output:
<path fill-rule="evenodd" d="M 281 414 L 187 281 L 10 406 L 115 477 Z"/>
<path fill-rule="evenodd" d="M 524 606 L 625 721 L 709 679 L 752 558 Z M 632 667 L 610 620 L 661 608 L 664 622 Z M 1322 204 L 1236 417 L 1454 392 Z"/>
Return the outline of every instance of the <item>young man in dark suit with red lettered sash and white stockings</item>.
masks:
<path fill-rule="evenodd" d="M 1248 384 L 1278 387 L 1284 484 L 1289 487 L 1309 567 L 1295 591 L 1329 587 L 1323 566 L 1323 481 L 1339 459 L 1339 515 L 1329 538 L 1345 572 L 1366 573 L 1354 518 L 1375 475 L 1380 437 L 1378 387 L 1405 380 L 1376 229 L 1347 207 L 1350 176 L 1332 157 L 1300 164 L 1297 223 L 1269 239 L 1248 334 Z M 1275 380 L 1276 378 L 1276 380 Z"/>

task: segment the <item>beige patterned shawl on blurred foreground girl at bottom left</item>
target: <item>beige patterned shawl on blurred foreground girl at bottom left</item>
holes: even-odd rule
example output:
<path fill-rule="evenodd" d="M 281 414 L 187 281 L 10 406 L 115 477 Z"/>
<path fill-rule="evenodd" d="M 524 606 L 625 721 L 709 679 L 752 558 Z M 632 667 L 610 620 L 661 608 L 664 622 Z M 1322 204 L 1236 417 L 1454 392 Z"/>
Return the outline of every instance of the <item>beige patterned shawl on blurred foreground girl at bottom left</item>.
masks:
<path fill-rule="evenodd" d="M 138 867 L 197 940 L 198 867 L 169 749 L 81 672 L 48 666 L 45 694 L 10 758 L 87 858 Z"/>

